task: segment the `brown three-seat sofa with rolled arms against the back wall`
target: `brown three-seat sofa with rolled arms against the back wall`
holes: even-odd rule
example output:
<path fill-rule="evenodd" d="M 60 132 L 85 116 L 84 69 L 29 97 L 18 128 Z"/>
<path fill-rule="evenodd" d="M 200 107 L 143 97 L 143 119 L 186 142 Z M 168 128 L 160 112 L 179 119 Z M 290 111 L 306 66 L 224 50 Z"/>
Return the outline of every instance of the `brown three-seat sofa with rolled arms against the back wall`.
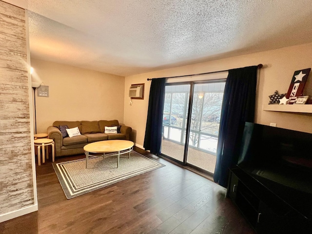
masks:
<path fill-rule="evenodd" d="M 60 125 L 67 125 L 68 128 L 78 127 L 80 136 L 65 137 L 59 131 Z M 91 142 L 100 140 L 129 140 L 131 127 L 121 125 L 120 133 L 104 133 L 105 126 L 119 126 L 118 120 L 99 121 L 55 121 L 53 126 L 48 127 L 48 136 L 54 140 L 55 156 L 69 156 L 84 154 L 83 147 Z"/>

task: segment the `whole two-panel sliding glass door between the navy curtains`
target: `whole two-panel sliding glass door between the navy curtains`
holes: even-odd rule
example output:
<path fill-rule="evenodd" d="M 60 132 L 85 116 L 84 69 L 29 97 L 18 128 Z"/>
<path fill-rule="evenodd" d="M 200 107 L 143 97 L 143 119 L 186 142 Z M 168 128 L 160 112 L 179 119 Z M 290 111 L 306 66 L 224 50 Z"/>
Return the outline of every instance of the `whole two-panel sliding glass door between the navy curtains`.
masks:
<path fill-rule="evenodd" d="M 224 86 L 225 81 L 166 86 L 162 155 L 214 173 Z"/>

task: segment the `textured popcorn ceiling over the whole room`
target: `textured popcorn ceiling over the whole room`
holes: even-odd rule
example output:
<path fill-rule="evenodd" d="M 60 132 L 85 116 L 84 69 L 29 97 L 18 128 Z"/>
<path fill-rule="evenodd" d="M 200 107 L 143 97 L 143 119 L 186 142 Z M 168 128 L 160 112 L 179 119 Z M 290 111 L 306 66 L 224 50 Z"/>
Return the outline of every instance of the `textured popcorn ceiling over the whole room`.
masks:
<path fill-rule="evenodd" d="M 312 42 L 311 0 L 21 1 L 31 58 L 121 76 Z"/>

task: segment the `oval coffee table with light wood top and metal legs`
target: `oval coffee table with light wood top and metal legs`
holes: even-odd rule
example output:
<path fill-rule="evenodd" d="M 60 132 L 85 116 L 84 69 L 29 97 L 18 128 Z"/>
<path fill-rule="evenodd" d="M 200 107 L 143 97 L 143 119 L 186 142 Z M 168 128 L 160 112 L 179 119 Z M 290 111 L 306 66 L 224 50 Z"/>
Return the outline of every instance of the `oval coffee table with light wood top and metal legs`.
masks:
<path fill-rule="evenodd" d="M 87 144 L 83 147 L 86 155 L 86 168 L 88 168 L 88 158 L 91 154 L 103 154 L 103 158 L 117 156 L 117 167 L 119 167 L 119 156 L 133 150 L 134 143 L 130 140 L 103 140 Z M 96 155 L 98 156 L 98 155 Z"/>

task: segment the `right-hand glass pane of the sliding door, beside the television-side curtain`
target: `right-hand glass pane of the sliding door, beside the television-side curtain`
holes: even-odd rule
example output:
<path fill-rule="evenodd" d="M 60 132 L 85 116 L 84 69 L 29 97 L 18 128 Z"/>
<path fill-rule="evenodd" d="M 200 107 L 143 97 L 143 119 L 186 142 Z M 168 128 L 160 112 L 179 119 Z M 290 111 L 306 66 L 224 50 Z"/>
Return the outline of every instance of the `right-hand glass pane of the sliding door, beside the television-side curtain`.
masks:
<path fill-rule="evenodd" d="M 225 82 L 195 84 L 187 162 L 214 173 Z"/>

